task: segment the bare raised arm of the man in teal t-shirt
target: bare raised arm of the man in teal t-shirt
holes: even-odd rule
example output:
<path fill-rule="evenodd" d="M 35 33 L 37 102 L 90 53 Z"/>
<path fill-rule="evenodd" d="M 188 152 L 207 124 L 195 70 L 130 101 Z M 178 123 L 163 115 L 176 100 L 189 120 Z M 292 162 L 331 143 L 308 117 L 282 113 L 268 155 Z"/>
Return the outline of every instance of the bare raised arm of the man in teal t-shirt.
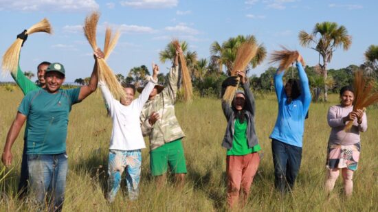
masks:
<path fill-rule="evenodd" d="M 87 96 L 89 96 L 91 93 L 96 91 L 97 84 L 98 84 L 98 59 L 104 58 L 104 53 L 101 51 L 101 49 L 97 49 L 93 53 L 93 57 L 95 58 L 95 64 L 93 66 L 93 71 L 91 75 L 91 79 L 89 80 L 89 84 L 85 86 L 80 87 L 80 93 L 79 93 L 79 101 L 82 99 L 85 99 Z"/>

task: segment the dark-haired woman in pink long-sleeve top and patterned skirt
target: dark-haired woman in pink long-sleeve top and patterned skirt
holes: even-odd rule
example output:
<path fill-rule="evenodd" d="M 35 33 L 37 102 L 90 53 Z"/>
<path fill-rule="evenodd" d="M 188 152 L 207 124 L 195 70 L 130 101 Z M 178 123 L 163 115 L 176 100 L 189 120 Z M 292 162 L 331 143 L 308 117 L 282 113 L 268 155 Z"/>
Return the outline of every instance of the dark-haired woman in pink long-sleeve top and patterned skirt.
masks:
<path fill-rule="evenodd" d="M 367 130 L 368 122 L 363 110 L 353 111 L 355 96 L 351 86 L 342 87 L 340 99 L 341 104 L 331 106 L 327 117 L 328 124 L 332 129 L 329 135 L 326 161 L 328 168 L 326 191 L 329 193 L 333 190 L 341 169 L 344 192 L 349 197 L 353 191 L 353 172 L 357 170 L 361 151 L 359 132 Z M 346 132 L 344 127 L 349 121 L 353 121 L 353 126 L 350 131 Z"/>

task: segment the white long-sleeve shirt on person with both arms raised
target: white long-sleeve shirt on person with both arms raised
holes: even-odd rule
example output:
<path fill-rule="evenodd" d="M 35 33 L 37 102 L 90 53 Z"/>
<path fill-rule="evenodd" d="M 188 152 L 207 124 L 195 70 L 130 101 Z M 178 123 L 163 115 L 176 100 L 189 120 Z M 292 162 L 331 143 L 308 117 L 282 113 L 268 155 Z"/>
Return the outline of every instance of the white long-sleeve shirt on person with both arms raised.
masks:
<path fill-rule="evenodd" d="M 156 82 L 151 77 L 139 97 L 134 99 L 129 106 L 124 106 L 118 99 L 114 99 L 104 82 L 98 83 L 113 119 L 110 150 L 140 150 L 146 148 L 140 129 L 140 112 L 155 84 Z"/>

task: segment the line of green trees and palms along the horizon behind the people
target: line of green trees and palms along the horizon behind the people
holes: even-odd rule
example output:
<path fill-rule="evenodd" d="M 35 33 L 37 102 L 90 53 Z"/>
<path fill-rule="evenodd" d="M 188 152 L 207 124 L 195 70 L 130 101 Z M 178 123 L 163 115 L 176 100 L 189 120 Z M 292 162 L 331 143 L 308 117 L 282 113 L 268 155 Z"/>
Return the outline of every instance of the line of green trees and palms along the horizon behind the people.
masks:
<path fill-rule="evenodd" d="M 334 22 L 317 23 L 311 33 L 303 30 L 298 34 L 300 45 L 309 47 L 318 52 L 318 64 L 313 67 L 305 67 L 305 71 L 309 77 L 309 84 L 313 94 L 313 101 L 327 101 L 327 93 L 329 91 L 336 93 L 342 86 L 353 82 L 353 72 L 357 69 L 363 69 L 367 76 L 378 79 L 378 45 L 370 45 L 366 50 L 364 64 L 351 64 L 342 69 L 329 69 L 327 64 L 331 62 L 333 52 L 343 47 L 344 51 L 351 47 L 352 38 L 348 35 L 346 27 L 339 26 Z M 258 45 L 258 51 L 252 58 L 249 66 L 246 68 L 248 73 L 258 64 L 263 62 L 267 57 L 267 51 L 262 44 L 258 44 L 256 38 L 252 35 L 236 36 L 225 40 L 222 44 L 217 41 L 210 46 L 210 59 L 197 58 L 196 51 L 188 49 L 186 41 L 181 42 L 181 49 L 186 58 L 186 65 L 191 70 L 192 84 L 194 91 L 197 91 L 201 97 L 220 97 L 221 83 L 230 75 L 236 51 L 243 42 L 254 42 Z M 159 60 L 163 63 L 173 62 L 175 58 L 175 47 L 172 43 L 168 43 L 166 48 L 159 52 Z M 223 71 L 225 67 L 225 71 Z M 269 67 L 264 73 L 258 77 L 252 75 L 249 78 L 252 89 L 255 91 L 274 91 L 274 73 L 277 67 Z M 295 67 L 291 67 L 286 71 L 284 80 L 288 78 L 298 78 Z M 150 75 L 150 71 L 145 65 L 133 67 L 127 75 L 118 73 L 116 75 L 120 83 L 135 84 L 140 86 L 144 83 L 146 75 Z M 159 83 L 166 84 L 166 76 L 163 73 L 158 75 Z M 86 79 L 79 78 L 75 83 L 86 84 Z M 89 79 L 89 78 L 88 78 Z M 323 94 L 322 97 L 320 94 Z"/>

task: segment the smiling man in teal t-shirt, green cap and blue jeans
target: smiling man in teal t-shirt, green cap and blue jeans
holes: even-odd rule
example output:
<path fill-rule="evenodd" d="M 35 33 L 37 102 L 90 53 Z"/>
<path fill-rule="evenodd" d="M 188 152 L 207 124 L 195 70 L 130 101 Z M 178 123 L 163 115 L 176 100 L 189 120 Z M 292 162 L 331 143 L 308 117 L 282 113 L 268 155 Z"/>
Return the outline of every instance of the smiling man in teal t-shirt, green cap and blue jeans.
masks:
<path fill-rule="evenodd" d="M 96 51 L 98 58 L 103 54 Z M 87 86 L 62 90 L 65 68 L 52 63 L 45 73 L 45 89 L 31 91 L 23 98 L 19 111 L 8 132 L 3 151 L 3 164 L 12 163 L 12 145 L 23 123 L 27 120 L 27 161 L 30 177 L 31 198 L 43 207 L 45 198 L 49 209 L 61 211 L 64 202 L 67 176 L 66 137 L 71 106 L 96 91 L 98 84 L 97 62 Z M 54 191 L 54 192 L 52 192 Z M 51 196 L 47 196 L 47 194 Z"/>

